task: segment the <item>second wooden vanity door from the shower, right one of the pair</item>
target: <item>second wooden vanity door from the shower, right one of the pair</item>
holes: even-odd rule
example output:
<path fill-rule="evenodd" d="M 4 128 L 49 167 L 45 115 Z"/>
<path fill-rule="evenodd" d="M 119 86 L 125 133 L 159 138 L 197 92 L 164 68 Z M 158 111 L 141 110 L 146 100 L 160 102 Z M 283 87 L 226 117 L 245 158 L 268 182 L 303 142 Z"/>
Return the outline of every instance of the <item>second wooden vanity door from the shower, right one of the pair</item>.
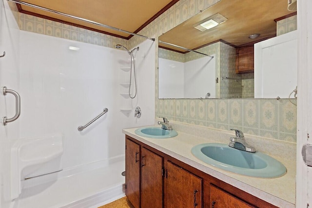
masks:
<path fill-rule="evenodd" d="M 162 157 L 141 149 L 141 208 L 162 208 Z"/>

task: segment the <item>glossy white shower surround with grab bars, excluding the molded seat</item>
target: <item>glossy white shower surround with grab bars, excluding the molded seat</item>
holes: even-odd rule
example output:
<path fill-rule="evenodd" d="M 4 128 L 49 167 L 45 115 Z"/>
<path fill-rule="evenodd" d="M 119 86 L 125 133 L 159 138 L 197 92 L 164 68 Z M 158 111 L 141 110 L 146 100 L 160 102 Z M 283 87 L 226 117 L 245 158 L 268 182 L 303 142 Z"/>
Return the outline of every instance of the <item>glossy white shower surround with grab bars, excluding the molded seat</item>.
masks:
<path fill-rule="evenodd" d="M 107 184 L 113 187 L 115 175 L 120 176 L 116 193 L 122 193 L 122 129 L 154 124 L 155 43 L 139 45 L 137 97 L 130 99 L 124 96 L 131 61 L 126 51 L 20 31 L 8 2 L 1 4 L 0 50 L 6 56 L 0 58 L 0 85 L 19 92 L 21 114 L 16 122 L 0 126 L 0 207 L 79 207 L 84 199 L 89 200 L 84 207 L 92 207 L 107 200 L 100 193 Z M 1 117 L 14 115 L 14 102 L 0 96 Z M 137 106 L 140 118 L 134 117 Z M 104 108 L 107 113 L 77 130 Z M 55 134 L 63 136 L 63 170 L 22 180 L 21 194 L 12 202 L 12 146 L 17 140 Z"/>

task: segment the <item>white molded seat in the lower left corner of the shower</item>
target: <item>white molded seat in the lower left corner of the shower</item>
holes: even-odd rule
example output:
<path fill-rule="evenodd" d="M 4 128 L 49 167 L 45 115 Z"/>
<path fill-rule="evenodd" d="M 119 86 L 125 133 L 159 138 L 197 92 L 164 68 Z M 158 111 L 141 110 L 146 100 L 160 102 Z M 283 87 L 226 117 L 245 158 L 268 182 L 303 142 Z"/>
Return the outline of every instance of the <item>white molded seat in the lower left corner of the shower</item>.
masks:
<path fill-rule="evenodd" d="M 63 169 L 63 135 L 22 138 L 11 149 L 11 198 L 21 193 L 21 181 Z"/>

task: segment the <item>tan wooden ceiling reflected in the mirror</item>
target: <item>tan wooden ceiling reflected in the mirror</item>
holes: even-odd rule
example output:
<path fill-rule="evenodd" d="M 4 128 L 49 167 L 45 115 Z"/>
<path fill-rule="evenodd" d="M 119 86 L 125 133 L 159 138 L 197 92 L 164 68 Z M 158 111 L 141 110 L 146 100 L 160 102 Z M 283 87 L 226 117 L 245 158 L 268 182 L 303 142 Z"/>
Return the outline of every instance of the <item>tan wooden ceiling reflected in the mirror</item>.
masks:
<path fill-rule="evenodd" d="M 224 41 L 235 47 L 276 36 L 276 19 L 295 15 L 287 10 L 288 0 L 221 0 L 191 19 L 161 35 L 158 39 L 188 49 L 196 49 L 215 41 Z M 216 27 L 200 31 L 193 27 L 203 19 L 220 13 L 228 20 Z M 248 38 L 251 34 L 258 38 Z M 166 48 L 177 49 L 159 44 Z"/>

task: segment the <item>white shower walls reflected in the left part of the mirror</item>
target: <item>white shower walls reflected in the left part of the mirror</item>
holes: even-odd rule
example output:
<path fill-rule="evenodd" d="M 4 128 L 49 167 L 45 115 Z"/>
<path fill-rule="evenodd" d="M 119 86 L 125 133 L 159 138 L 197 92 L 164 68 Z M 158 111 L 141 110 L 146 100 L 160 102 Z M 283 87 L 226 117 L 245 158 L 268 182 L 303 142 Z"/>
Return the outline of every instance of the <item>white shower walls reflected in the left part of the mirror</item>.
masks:
<path fill-rule="evenodd" d="M 158 58 L 161 98 L 215 97 L 215 58 L 199 56 L 186 62 Z"/>

